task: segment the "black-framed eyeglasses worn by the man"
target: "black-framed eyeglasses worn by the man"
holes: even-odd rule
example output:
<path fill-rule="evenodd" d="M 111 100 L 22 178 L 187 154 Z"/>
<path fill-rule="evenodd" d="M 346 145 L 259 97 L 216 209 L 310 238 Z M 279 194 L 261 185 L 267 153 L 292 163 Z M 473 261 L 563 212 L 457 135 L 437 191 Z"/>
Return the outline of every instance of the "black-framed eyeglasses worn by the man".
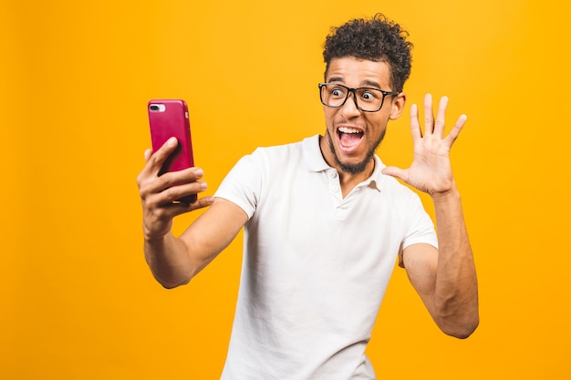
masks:
<path fill-rule="evenodd" d="M 351 92 L 355 106 L 363 112 L 377 112 L 383 107 L 386 96 L 399 94 L 395 91 L 383 91 L 372 87 L 351 88 L 337 83 L 319 83 L 319 98 L 321 98 L 321 103 L 327 107 L 343 107 Z"/>

